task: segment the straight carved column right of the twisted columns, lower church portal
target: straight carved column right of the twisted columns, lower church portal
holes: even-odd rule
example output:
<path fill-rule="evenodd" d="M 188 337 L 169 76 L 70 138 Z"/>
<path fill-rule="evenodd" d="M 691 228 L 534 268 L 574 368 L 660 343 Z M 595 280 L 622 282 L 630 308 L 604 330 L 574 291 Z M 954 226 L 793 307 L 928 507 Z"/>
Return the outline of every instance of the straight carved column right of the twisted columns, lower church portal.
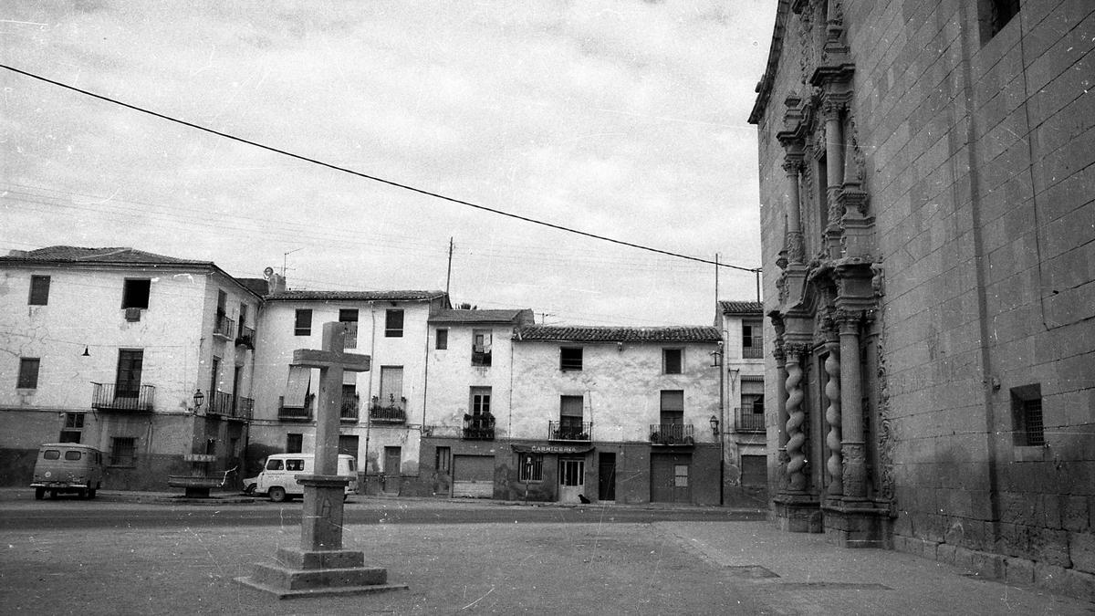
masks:
<path fill-rule="evenodd" d="M 863 430 L 863 384 L 860 374 L 858 312 L 838 311 L 840 323 L 841 387 L 844 453 L 844 500 L 862 501 L 867 498 L 866 447 Z"/>

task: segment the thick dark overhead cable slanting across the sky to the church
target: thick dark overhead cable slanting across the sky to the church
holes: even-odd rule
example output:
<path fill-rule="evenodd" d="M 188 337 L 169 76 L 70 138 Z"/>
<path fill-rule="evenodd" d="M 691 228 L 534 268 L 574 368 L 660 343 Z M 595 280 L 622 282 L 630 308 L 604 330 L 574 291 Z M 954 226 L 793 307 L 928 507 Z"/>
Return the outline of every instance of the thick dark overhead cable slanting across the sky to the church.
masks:
<path fill-rule="evenodd" d="M 505 212 L 505 210 L 497 209 L 497 208 L 494 208 L 494 207 L 487 207 L 485 205 L 479 205 L 479 204 L 466 202 L 466 201 L 463 201 L 463 199 L 458 199 L 458 198 L 454 198 L 454 197 L 446 196 L 446 195 L 442 195 L 442 194 L 439 194 L 439 193 L 434 193 L 434 192 L 426 191 L 426 190 L 423 190 L 423 189 L 416 189 L 416 187 L 410 186 L 407 184 L 401 184 L 401 183 L 394 182 L 392 180 L 385 180 L 383 178 L 378 178 L 376 175 L 369 175 L 368 173 L 362 173 L 360 171 L 355 171 L 353 169 L 347 169 L 345 167 L 339 167 L 337 164 L 332 164 L 330 162 L 324 162 L 322 160 L 310 158 L 310 157 L 307 157 L 307 156 L 303 156 L 303 155 L 293 153 L 293 152 L 290 152 L 288 150 L 283 150 L 283 149 L 279 149 L 279 148 L 275 148 L 273 146 L 267 146 L 267 145 L 264 145 L 264 144 L 260 144 L 257 141 L 252 141 L 250 139 L 244 139 L 243 137 L 237 137 L 235 135 L 231 135 L 229 133 L 223 133 L 223 132 L 220 132 L 220 130 L 216 130 L 216 129 L 209 128 L 207 126 L 201 126 L 200 124 L 194 124 L 192 122 L 186 122 L 185 119 L 180 119 L 177 117 L 172 117 L 170 115 L 158 113 L 158 112 L 145 109 L 145 107 L 140 107 L 140 106 L 137 106 L 137 105 L 131 105 L 129 103 L 125 103 L 125 102 L 119 101 L 117 99 L 112 99 L 110 96 L 104 96 L 102 94 L 96 94 L 94 92 L 91 92 L 91 91 L 88 91 L 88 90 L 83 90 L 81 88 L 77 88 L 77 87 L 70 85 L 68 83 L 62 83 L 60 81 L 56 81 L 56 80 L 49 79 L 47 77 L 43 77 L 41 75 L 36 75 L 36 73 L 28 72 L 28 71 L 25 71 L 25 70 L 20 70 L 18 68 L 14 68 L 14 67 L 11 67 L 11 66 L 8 66 L 8 65 L 0 65 L 0 68 L 10 70 L 12 72 L 22 75 L 24 77 L 30 77 L 31 79 L 36 79 L 38 81 L 43 81 L 43 82 L 46 82 L 46 83 L 50 83 L 53 85 L 57 85 L 58 88 L 64 88 L 66 90 L 71 90 L 73 92 L 78 92 L 80 94 L 84 94 L 87 96 L 91 96 L 93 99 L 99 99 L 101 101 L 105 101 L 107 103 L 119 105 L 119 106 L 123 106 L 123 107 L 126 107 L 126 109 L 129 109 L 129 110 L 132 110 L 132 111 L 136 111 L 136 112 L 139 112 L 139 113 L 143 113 L 143 114 L 147 114 L 147 115 L 159 117 L 160 119 L 165 119 L 168 122 L 173 122 L 175 124 L 182 124 L 183 126 L 188 126 L 188 127 L 194 128 L 196 130 L 201 130 L 201 132 L 205 132 L 205 133 L 209 133 L 211 135 L 217 135 L 218 137 L 223 137 L 226 139 L 231 139 L 233 141 L 239 141 L 241 144 L 246 144 L 246 145 L 255 147 L 255 148 L 260 148 L 260 149 L 264 149 L 264 150 L 272 151 L 272 152 L 275 152 L 275 153 L 279 153 L 281 156 L 287 156 L 289 158 L 295 158 L 297 160 L 302 160 L 304 162 L 310 162 L 312 164 L 318 164 L 320 167 L 325 167 L 327 169 L 332 169 L 334 171 L 339 171 L 342 173 L 348 173 L 350 175 L 356 175 L 358 178 L 364 178 L 366 180 L 372 180 L 373 182 L 380 182 L 381 184 L 388 184 L 389 186 L 394 186 L 396 189 L 403 189 L 405 191 L 410 191 L 410 192 L 413 192 L 413 193 L 418 193 L 420 195 L 426 195 L 426 196 L 430 196 L 430 197 L 438 198 L 438 199 L 441 199 L 441 201 L 447 201 L 447 202 L 450 202 L 450 203 L 456 203 L 456 204 L 459 204 L 459 205 L 464 205 L 464 206 L 468 206 L 468 207 L 472 207 L 472 208 L 475 208 L 475 209 L 481 209 L 483 212 L 489 212 L 492 214 L 497 214 L 499 216 L 506 216 L 506 217 L 509 217 L 509 218 L 515 218 L 517 220 L 521 220 L 521 221 L 525 221 L 525 223 L 531 223 L 533 225 L 540 225 L 540 226 L 549 227 L 549 228 L 556 229 L 556 230 L 560 230 L 560 231 L 566 231 L 568 233 L 576 233 L 576 235 L 584 236 L 584 237 L 587 237 L 587 238 L 592 238 L 592 239 L 597 239 L 597 240 L 601 240 L 601 241 L 607 241 L 607 242 L 611 242 L 611 243 L 615 243 L 615 244 L 620 244 L 620 246 L 626 246 L 626 247 L 630 247 L 630 248 L 636 248 L 636 249 L 645 250 L 645 251 L 648 251 L 648 252 L 656 252 L 658 254 L 666 254 L 668 256 L 676 256 L 678 259 L 687 259 L 689 261 L 696 261 L 696 262 L 700 262 L 700 263 L 708 263 L 708 264 L 712 264 L 712 265 L 715 265 L 715 266 L 718 266 L 718 267 L 729 267 L 731 270 L 740 270 L 742 272 L 750 272 L 750 273 L 760 272 L 760 269 L 758 269 L 758 267 L 742 267 L 740 265 L 730 265 L 728 263 L 717 263 L 717 262 L 712 261 L 710 259 L 702 259 L 700 256 L 692 256 L 692 255 L 689 255 L 689 254 L 681 254 L 681 253 L 678 253 L 678 252 L 671 252 L 671 251 L 668 251 L 668 250 L 661 250 L 661 249 L 658 249 L 658 248 L 652 248 L 652 247 L 648 247 L 648 246 L 633 243 L 633 242 L 629 242 L 629 241 L 624 241 L 624 240 L 618 240 L 615 238 L 609 238 L 609 237 L 606 237 L 606 236 L 600 236 L 600 235 L 591 233 L 591 232 L 588 232 L 588 231 L 581 231 L 579 229 L 574 229 L 574 228 L 570 228 L 570 227 L 564 227 L 562 225 L 555 225 L 553 223 L 548 223 L 545 220 L 540 220 L 540 219 L 537 219 L 537 218 L 530 218 L 530 217 L 527 217 L 527 216 L 521 216 L 519 214 L 514 214 L 511 212 Z"/>

